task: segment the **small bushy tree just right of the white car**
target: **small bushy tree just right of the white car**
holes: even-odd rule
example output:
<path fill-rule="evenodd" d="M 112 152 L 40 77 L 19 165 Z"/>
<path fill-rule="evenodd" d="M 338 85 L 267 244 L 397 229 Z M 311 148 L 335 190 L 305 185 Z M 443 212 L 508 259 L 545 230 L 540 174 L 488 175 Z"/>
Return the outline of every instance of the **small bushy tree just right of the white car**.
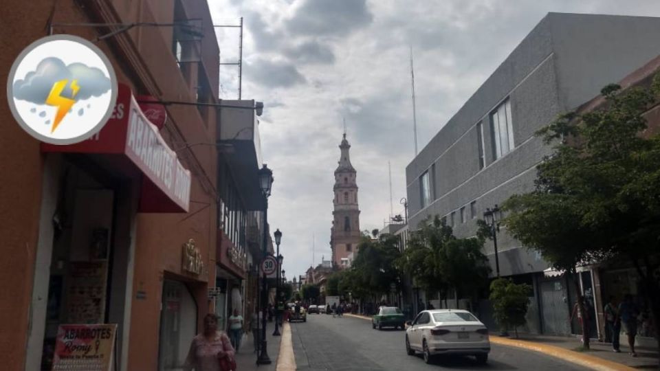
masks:
<path fill-rule="evenodd" d="M 512 280 L 498 278 L 490 283 L 490 302 L 497 323 L 504 329 L 513 326 L 518 337 L 518 326 L 525 324 L 529 295 L 529 284 L 514 284 Z"/>

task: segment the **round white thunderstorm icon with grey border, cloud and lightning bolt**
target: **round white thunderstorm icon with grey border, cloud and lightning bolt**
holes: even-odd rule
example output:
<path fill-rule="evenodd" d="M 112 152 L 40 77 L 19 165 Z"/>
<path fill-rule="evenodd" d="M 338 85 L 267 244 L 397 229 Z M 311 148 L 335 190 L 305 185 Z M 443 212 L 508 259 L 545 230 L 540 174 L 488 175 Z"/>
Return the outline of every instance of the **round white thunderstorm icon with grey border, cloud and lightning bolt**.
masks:
<path fill-rule="evenodd" d="M 7 96 L 25 131 L 51 144 L 73 144 L 107 122 L 117 80 L 106 56 L 83 38 L 41 38 L 14 62 Z"/>

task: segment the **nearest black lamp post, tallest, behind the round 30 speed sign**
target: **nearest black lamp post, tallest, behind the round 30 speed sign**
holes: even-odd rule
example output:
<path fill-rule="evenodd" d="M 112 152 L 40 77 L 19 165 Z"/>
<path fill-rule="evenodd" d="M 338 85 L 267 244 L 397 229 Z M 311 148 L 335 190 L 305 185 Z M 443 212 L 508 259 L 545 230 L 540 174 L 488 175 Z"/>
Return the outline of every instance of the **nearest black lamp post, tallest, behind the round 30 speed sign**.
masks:
<path fill-rule="evenodd" d="M 270 170 L 266 164 L 263 164 L 261 170 L 259 170 L 259 186 L 261 187 L 261 193 L 263 194 L 263 257 L 265 259 L 268 256 L 268 197 L 270 196 L 270 190 L 273 185 L 273 172 Z M 266 349 L 266 319 L 267 319 L 267 304 L 268 304 L 268 291 L 267 291 L 267 278 L 266 273 L 263 273 L 262 282 L 261 282 L 261 311 L 263 312 L 263 317 L 261 318 L 261 352 L 259 357 L 256 359 L 256 364 L 258 365 L 268 365 L 272 363 L 270 357 L 268 357 L 268 350 Z"/>

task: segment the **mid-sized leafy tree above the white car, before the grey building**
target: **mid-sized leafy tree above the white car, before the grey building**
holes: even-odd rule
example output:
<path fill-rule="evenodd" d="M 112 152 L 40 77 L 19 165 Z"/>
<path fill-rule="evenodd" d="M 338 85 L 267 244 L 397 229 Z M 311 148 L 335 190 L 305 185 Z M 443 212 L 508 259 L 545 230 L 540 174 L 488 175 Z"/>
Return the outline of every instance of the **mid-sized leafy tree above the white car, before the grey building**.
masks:
<path fill-rule="evenodd" d="M 487 284 L 490 267 L 483 254 L 485 236 L 456 238 L 444 218 L 435 216 L 419 225 L 397 266 L 410 273 L 417 286 L 426 292 L 440 292 L 447 297 L 454 289 L 456 297 L 476 297 Z"/>

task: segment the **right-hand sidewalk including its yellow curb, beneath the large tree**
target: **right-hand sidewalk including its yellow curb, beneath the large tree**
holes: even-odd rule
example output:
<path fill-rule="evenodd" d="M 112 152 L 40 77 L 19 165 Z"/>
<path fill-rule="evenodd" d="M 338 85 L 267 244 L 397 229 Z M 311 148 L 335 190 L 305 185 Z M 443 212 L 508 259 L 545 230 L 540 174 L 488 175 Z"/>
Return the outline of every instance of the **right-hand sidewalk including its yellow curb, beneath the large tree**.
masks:
<path fill-rule="evenodd" d="M 630 348 L 626 344 L 626 337 L 621 336 L 621 352 L 613 352 L 612 345 L 592 339 L 588 352 L 575 349 L 582 346 L 578 337 L 562 337 L 551 335 L 520 334 L 518 339 L 499 337 L 492 334 L 490 341 L 493 344 L 516 346 L 537 352 L 547 353 L 555 357 L 570 358 L 584 366 L 601 370 L 655 370 L 658 367 L 658 352 L 653 348 L 635 348 L 637 357 L 628 354 Z"/>

